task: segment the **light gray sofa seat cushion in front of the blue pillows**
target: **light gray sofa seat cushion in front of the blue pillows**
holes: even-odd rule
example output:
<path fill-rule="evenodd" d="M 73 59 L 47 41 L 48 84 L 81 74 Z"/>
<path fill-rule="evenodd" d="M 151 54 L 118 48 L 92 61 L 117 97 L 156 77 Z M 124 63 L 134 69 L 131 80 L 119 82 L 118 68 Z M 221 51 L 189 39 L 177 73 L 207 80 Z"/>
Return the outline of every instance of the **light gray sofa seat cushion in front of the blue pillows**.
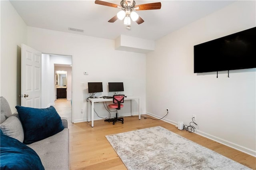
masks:
<path fill-rule="evenodd" d="M 46 170 L 69 170 L 69 132 L 61 132 L 48 138 L 28 144 L 42 160 Z"/>

